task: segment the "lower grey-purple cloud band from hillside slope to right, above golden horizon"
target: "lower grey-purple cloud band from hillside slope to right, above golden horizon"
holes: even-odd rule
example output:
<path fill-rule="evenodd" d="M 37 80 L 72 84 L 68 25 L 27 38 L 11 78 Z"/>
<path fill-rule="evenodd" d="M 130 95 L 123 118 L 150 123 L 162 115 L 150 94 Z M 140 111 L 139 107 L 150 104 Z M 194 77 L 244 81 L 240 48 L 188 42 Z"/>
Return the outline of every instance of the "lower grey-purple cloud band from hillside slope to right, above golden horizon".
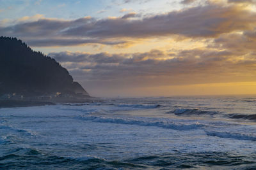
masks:
<path fill-rule="evenodd" d="M 256 59 L 239 57 L 229 50 L 182 50 L 174 57 L 167 52 L 145 53 L 49 53 L 79 81 L 90 85 L 127 86 L 188 85 L 207 82 L 249 81 L 256 78 Z M 240 57 L 244 53 L 240 54 Z M 86 85 L 86 84 L 84 84 Z"/>

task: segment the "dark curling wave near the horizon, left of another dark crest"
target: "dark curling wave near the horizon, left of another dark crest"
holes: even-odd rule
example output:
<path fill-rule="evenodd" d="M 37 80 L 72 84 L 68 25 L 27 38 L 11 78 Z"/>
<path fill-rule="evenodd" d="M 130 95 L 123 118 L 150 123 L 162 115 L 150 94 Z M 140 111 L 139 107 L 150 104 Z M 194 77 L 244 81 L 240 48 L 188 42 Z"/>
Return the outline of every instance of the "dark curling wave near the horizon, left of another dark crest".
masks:
<path fill-rule="evenodd" d="M 198 109 L 176 109 L 174 111 L 170 111 L 168 113 L 174 113 L 175 115 L 180 116 L 195 116 L 195 115 L 217 115 L 218 111 L 205 111 L 205 110 L 198 110 Z"/>

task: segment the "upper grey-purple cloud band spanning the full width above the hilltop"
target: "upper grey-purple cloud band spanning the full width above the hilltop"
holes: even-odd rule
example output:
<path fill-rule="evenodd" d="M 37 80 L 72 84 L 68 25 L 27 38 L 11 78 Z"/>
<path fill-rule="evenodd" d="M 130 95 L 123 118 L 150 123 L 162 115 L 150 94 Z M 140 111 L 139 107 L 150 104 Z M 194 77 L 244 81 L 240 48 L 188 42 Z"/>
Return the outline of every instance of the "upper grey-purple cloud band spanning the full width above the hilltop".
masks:
<path fill-rule="evenodd" d="M 32 46 L 84 43 L 116 45 L 124 42 L 113 41 L 113 39 L 150 38 L 173 34 L 207 38 L 232 31 L 251 31 L 256 26 L 256 14 L 244 10 L 236 4 L 221 6 L 209 3 L 205 6 L 196 6 L 151 17 L 127 19 L 131 17 L 136 17 L 136 14 L 129 13 L 123 17 L 100 20 L 90 17 L 77 20 L 45 18 L 36 22 L 22 22 L 8 27 L 0 27 L 0 34 L 21 39 L 37 39 L 31 41 Z M 49 42 L 46 42 L 45 39 L 49 39 Z M 95 39 L 100 39 L 100 41 Z"/>

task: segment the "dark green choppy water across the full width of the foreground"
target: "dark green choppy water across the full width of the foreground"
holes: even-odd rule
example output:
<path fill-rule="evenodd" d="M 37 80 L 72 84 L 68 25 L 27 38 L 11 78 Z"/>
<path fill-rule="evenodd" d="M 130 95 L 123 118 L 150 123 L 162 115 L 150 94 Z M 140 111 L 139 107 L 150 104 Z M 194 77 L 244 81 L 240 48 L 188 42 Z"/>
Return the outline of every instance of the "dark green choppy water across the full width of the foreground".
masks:
<path fill-rule="evenodd" d="M 118 160 L 85 155 L 8 154 L 0 157 L 3 169 L 188 169 L 212 167 L 212 169 L 255 169 L 255 154 L 234 155 L 225 152 L 160 153 Z"/>

